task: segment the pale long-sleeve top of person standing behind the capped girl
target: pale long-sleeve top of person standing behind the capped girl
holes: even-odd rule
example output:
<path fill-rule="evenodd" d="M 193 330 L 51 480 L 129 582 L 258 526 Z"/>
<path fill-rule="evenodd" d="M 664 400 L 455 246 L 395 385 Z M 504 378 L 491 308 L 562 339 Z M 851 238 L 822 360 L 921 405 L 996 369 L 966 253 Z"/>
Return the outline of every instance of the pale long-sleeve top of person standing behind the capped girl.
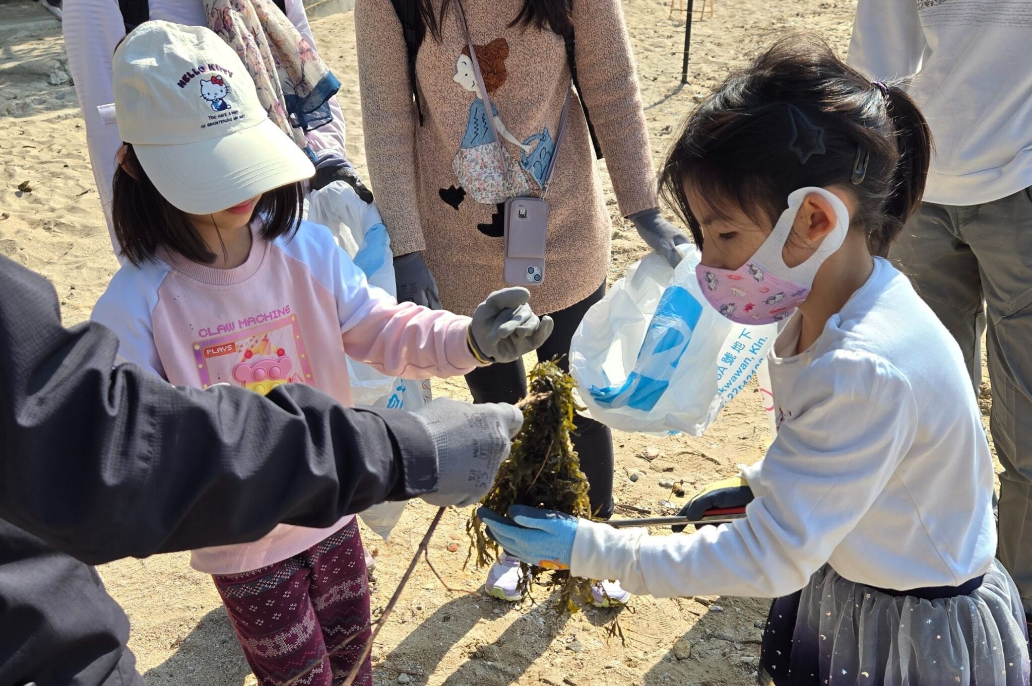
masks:
<path fill-rule="evenodd" d="M 151 19 L 174 22 L 186 26 L 207 26 L 201 0 L 150 0 Z M 301 0 L 286 0 L 287 18 L 309 42 L 316 45 Z M 86 142 L 90 149 L 93 177 L 104 208 L 107 230 L 111 232 L 111 181 L 115 177 L 115 155 L 122 145 L 117 126 L 104 125 L 97 112 L 99 105 L 115 102 L 111 85 L 111 57 L 115 47 L 126 35 L 119 0 L 74 0 L 66 3 L 62 18 L 68 67 L 75 81 L 75 93 L 86 121 Z M 316 45 L 318 50 L 318 45 Z M 312 150 L 332 150 L 347 158 L 345 151 L 344 112 L 330 99 L 333 121 L 308 133 Z M 111 246 L 119 253 L 115 234 Z"/>

